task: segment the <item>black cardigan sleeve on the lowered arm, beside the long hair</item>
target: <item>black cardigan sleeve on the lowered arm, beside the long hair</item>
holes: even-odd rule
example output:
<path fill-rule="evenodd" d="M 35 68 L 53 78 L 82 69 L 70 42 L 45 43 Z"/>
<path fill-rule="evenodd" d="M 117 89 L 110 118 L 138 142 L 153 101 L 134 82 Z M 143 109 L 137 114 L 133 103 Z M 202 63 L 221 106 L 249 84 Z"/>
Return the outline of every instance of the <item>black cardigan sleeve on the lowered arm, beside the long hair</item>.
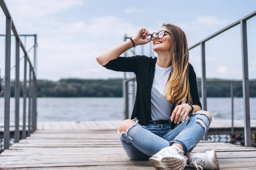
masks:
<path fill-rule="evenodd" d="M 200 103 L 198 90 L 197 90 L 196 73 L 193 69 L 193 66 L 190 63 L 189 63 L 188 79 L 189 79 L 189 87 L 190 87 L 190 94 L 192 98 L 192 104 L 199 105 L 199 107 L 202 109 L 202 105 Z"/>

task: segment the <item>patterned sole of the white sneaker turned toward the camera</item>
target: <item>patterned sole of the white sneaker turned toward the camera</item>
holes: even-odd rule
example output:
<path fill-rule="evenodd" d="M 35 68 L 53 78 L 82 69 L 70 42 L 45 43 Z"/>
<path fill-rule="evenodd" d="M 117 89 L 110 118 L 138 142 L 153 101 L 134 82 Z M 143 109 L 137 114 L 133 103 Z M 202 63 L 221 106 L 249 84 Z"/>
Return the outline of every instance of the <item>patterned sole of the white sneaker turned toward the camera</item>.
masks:
<path fill-rule="evenodd" d="M 150 158 L 150 163 L 155 167 L 155 169 L 173 169 L 173 170 L 182 170 L 184 169 L 183 160 L 175 157 L 164 157 L 162 160 L 156 160 Z"/>

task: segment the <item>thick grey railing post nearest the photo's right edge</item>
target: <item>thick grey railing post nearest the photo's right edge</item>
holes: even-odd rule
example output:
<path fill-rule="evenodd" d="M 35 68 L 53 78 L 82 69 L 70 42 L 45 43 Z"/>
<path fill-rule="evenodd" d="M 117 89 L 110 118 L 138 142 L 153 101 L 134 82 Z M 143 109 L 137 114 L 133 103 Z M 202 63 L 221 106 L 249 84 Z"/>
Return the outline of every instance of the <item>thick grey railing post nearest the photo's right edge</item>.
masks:
<path fill-rule="evenodd" d="M 241 20 L 241 45 L 242 45 L 242 72 L 243 72 L 243 120 L 245 122 L 245 146 L 251 146 L 250 128 L 250 95 L 249 95 L 249 74 L 247 54 L 247 31 L 246 20 Z"/>

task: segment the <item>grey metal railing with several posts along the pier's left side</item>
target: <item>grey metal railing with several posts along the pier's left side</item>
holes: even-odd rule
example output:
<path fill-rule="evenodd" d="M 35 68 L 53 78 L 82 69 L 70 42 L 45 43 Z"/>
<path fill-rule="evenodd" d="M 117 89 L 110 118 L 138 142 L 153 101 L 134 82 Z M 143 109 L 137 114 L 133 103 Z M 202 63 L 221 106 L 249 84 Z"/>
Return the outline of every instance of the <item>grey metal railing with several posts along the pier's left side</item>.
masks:
<path fill-rule="evenodd" d="M 3 13 L 6 16 L 6 34 L 0 35 L 5 36 L 5 116 L 4 116 L 4 134 L 3 134 L 3 150 L 6 150 L 10 147 L 10 92 L 11 92 L 11 31 L 13 31 L 13 36 L 15 36 L 15 142 L 20 140 L 20 131 L 19 131 L 19 98 L 20 98 L 20 48 L 24 53 L 24 80 L 23 80 L 23 129 L 22 129 L 22 138 L 26 138 L 31 133 L 36 130 L 36 99 L 37 99 L 37 80 L 36 80 L 36 71 L 33 67 L 30 58 L 28 57 L 28 52 L 25 49 L 20 36 L 24 36 L 25 39 L 27 36 L 34 36 L 34 66 L 36 66 L 36 48 L 37 48 L 37 35 L 19 35 L 14 21 L 11 18 L 11 14 L 7 8 L 7 5 L 4 0 L 0 0 L 0 6 Z M 27 89 L 27 63 L 29 66 L 28 72 L 28 89 Z M 27 94 L 28 91 L 28 94 Z M 28 97 L 28 126 L 26 126 L 26 112 L 27 112 L 27 97 Z M 28 133 L 26 134 L 26 127 L 28 127 Z"/>

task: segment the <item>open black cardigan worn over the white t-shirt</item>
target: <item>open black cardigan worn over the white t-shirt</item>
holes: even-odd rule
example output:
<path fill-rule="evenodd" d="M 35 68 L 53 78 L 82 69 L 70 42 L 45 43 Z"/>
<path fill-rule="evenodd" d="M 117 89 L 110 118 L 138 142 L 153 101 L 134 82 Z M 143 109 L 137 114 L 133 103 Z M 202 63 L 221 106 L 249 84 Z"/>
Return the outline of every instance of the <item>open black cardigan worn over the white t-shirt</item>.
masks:
<path fill-rule="evenodd" d="M 134 56 L 134 57 L 118 57 L 112 61 L 109 61 L 104 67 L 106 69 L 114 71 L 134 72 L 137 80 L 137 93 L 135 98 L 135 104 L 133 114 L 131 118 L 137 118 L 139 124 L 145 125 L 148 121 L 152 121 L 151 118 L 151 87 L 155 74 L 155 63 L 157 58 L 146 56 Z M 193 66 L 189 63 L 189 86 L 192 97 L 192 104 L 199 105 L 199 95 L 197 91 L 196 74 L 193 70 Z M 174 111 L 175 105 L 172 107 Z M 171 112 L 172 112 L 171 111 Z M 171 123 L 173 129 L 176 124 L 174 121 Z"/>

